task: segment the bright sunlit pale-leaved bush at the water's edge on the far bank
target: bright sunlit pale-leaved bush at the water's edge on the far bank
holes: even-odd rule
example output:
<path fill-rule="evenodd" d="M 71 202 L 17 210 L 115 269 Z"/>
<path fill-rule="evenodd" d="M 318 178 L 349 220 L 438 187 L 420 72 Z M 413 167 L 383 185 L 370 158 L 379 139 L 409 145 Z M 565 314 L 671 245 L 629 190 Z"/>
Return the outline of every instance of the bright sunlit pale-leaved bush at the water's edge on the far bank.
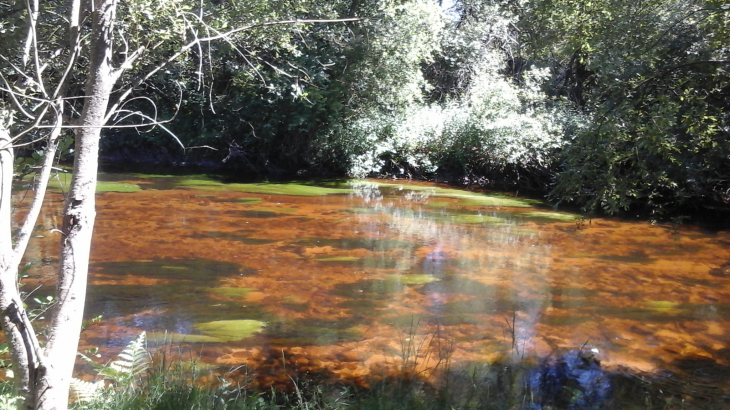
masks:
<path fill-rule="evenodd" d="M 339 129 L 348 172 L 354 176 L 472 177 L 508 170 L 549 174 L 566 128 L 582 126 L 581 117 L 542 92 L 546 70 L 526 70 L 516 82 L 501 73 L 500 54 L 485 57 L 458 100 L 413 103 L 395 113 L 372 109 Z M 541 178 L 543 188 L 548 182 L 549 178 Z"/>

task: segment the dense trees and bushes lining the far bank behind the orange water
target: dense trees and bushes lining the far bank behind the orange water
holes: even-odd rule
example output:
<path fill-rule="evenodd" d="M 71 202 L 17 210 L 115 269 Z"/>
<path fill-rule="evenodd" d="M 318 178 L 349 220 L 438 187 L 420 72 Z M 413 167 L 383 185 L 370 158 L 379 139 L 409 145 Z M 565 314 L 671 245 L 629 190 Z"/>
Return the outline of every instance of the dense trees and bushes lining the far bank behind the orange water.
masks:
<path fill-rule="evenodd" d="M 191 34 L 169 16 L 197 7 L 125 3 L 120 30 L 174 48 Z M 0 41 L 22 35 L 23 13 L 0 5 Z M 211 1 L 200 13 L 214 22 L 201 36 L 252 28 L 139 84 L 127 107 L 166 122 L 106 131 L 103 158 L 438 178 L 597 213 L 730 209 L 724 0 Z"/>

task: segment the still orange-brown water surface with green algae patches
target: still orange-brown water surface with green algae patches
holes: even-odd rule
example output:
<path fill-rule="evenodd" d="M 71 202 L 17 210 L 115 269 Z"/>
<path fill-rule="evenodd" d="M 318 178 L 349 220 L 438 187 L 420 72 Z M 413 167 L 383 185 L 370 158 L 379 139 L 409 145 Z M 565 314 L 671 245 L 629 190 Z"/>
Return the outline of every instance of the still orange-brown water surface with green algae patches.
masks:
<path fill-rule="evenodd" d="M 397 367 L 404 346 L 424 369 L 582 346 L 608 368 L 730 366 L 729 232 L 420 183 L 102 179 L 86 316 L 103 319 L 82 349 L 108 357 L 146 331 L 205 363 L 284 356 L 355 378 Z M 51 197 L 28 257 L 37 294 L 57 261 Z"/>

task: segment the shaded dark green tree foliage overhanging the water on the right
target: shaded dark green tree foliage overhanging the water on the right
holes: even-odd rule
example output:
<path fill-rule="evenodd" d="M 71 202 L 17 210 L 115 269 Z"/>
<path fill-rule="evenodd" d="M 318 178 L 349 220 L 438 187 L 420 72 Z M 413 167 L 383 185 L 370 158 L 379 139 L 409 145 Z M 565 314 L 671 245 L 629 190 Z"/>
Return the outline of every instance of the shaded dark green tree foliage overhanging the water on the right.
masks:
<path fill-rule="evenodd" d="M 552 198 L 591 212 L 644 208 L 660 217 L 727 209 L 730 105 L 722 95 L 730 59 L 718 40 L 730 40 L 728 9 L 668 0 L 591 4 L 602 12 L 560 20 L 577 31 L 557 43 L 556 55 L 567 59 L 578 47 L 586 73 L 564 84 L 582 87 L 576 102 L 591 125 L 563 151 Z M 563 9 L 542 10 L 557 19 Z"/>

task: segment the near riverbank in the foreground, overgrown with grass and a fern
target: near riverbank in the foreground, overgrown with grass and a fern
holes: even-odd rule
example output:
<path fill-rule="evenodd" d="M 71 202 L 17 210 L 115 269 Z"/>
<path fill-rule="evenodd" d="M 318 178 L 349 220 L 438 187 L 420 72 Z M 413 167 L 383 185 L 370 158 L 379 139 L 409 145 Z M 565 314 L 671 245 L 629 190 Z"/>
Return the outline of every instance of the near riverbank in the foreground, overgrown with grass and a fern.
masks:
<path fill-rule="evenodd" d="M 169 347 L 169 346 L 168 346 Z M 726 409 L 728 386 L 706 384 L 709 374 L 683 383 L 667 375 L 605 371 L 589 351 L 571 350 L 537 361 L 471 363 L 414 374 L 408 369 L 369 384 L 318 379 L 317 375 L 282 369 L 286 382 L 269 388 L 251 387 L 241 374 L 206 370 L 190 361 L 161 354 L 135 375 L 106 372 L 89 382 L 76 382 L 76 410 L 219 409 L 219 410 L 497 410 Z M 135 368 L 130 363 L 130 368 Z M 108 369 L 108 368 L 107 368 Z M 137 369 L 139 370 L 139 369 Z M 723 374 L 727 376 L 727 369 Z M 111 377 L 109 376 L 111 375 Z M 248 375 L 252 376 L 252 375 Z M 704 376 L 704 377 L 703 377 Z M 727 377 L 725 377 L 727 379 Z M 0 405 L 13 402 L 10 383 L 0 384 Z M 6 407 L 1 407 L 6 408 Z"/>

